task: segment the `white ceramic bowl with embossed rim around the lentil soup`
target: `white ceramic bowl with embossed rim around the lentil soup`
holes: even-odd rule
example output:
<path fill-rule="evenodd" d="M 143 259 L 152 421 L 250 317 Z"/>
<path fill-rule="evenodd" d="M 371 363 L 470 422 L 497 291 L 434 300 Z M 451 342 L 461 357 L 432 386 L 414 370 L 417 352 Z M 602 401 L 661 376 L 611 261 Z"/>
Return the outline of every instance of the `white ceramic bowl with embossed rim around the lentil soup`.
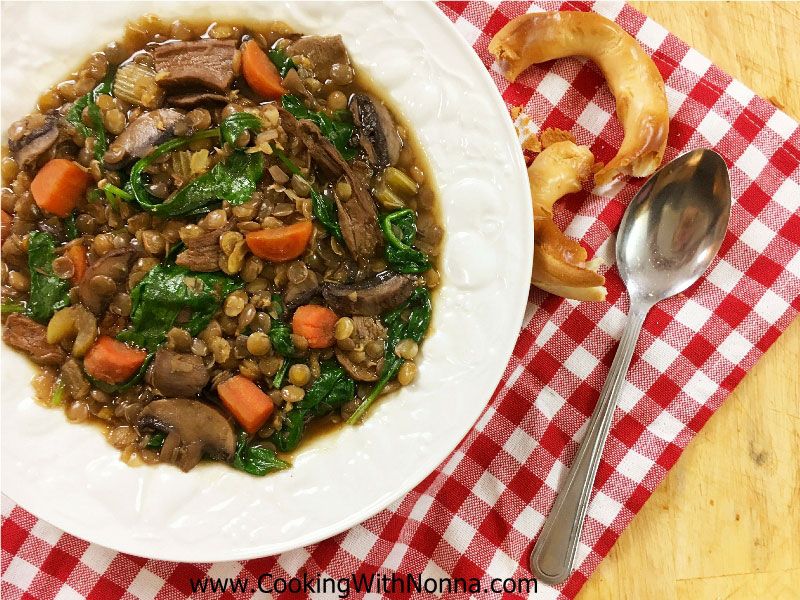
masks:
<path fill-rule="evenodd" d="M 431 4 L 6 3 L 2 124 L 142 13 L 283 20 L 341 33 L 428 154 L 447 230 L 433 331 L 412 386 L 366 423 L 303 447 L 264 478 L 225 465 L 130 468 L 95 427 L 31 399 L 29 363 L 3 348 L 2 490 L 91 542 L 140 556 L 219 561 L 304 546 L 374 515 L 456 447 L 486 406 L 522 322 L 532 256 L 525 165 L 485 68 Z"/>

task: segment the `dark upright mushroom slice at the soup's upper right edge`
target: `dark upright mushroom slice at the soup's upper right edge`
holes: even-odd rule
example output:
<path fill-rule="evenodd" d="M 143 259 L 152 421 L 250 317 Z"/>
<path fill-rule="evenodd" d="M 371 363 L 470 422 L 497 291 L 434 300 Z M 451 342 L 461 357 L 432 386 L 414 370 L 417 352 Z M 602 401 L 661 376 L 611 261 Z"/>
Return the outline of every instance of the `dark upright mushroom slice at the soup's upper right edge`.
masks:
<path fill-rule="evenodd" d="M 359 93 L 350 99 L 350 112 L 370 164 L 378 169 L 396 164 L 403 142 L 389 109 L 377 98 Z"/>

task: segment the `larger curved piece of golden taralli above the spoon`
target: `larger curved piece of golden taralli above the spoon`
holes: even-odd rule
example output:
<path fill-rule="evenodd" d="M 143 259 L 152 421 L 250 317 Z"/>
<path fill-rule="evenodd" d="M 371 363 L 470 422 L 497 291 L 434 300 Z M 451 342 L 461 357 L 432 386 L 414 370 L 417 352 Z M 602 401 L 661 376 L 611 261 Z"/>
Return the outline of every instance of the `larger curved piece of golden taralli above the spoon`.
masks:
<path fill-rule="evenodd" d="M 613 21 L 591 12 L 526 14 L 497 32 L 489 52 L 509 81 L 534 63 L 565 56 L 586 56 L 600 67 L 625 137 L 617 155 L 595 174 L 598 185 L 623 174 L 645 177 L 661 164 L 669 129 L 664 81 L 636 40 Z"/>

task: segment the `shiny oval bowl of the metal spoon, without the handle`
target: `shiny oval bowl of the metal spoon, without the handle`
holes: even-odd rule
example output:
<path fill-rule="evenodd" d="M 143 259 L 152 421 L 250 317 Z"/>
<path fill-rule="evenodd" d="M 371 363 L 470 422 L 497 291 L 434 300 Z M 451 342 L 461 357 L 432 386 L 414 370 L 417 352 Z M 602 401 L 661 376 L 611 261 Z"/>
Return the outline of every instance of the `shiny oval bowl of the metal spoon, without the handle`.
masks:
<path fill-rule="evenodd" d="M 728 169 L 712 150 L 687 152 L 653 175 L 617 234 L 617 268 L 632 301 L 655 303 L 692 285 L 716 256 L 730 209 Z"/>

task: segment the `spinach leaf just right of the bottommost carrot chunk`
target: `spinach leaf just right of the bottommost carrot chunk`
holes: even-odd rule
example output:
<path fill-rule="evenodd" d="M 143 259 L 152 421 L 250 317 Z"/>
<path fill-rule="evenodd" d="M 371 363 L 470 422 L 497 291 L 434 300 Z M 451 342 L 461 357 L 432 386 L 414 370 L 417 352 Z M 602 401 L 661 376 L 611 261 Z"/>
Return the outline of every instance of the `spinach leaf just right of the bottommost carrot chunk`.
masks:
<path fill-rule="evenodd" d="M 335 360 L 320 365 L 320 376 L 308 388 L 306 395 L 283 419 L 280 431 L 270 437 L 281 452 L 297 448 L 306 423 L 342 407 L 356 394 L 356 382 Z"/>

